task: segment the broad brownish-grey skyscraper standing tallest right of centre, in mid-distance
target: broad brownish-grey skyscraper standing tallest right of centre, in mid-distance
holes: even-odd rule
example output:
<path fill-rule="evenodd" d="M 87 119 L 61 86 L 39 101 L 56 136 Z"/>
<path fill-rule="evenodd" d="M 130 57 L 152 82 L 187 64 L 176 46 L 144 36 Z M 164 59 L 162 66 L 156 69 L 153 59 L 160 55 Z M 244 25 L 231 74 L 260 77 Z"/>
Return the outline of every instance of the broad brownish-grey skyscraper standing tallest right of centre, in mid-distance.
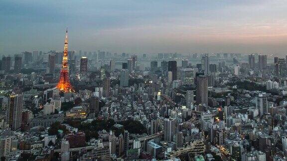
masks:
<path fill-rule="evenodd" d="M 208 103 L 208 78 L 207 76 L 199 75 L 196 77 L 196 102 L 207 104 Z"/>

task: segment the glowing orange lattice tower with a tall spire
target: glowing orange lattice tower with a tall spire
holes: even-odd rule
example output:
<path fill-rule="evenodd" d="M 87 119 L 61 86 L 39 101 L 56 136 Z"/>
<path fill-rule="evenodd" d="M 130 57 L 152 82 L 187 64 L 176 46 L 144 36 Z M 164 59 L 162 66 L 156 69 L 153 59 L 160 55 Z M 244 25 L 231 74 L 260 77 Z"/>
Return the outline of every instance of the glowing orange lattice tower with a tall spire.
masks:
<path fill-rule="evenodd" d="M 60 80 L 57 84 L 57 88 L 59 88 L 63 92 L 71 92 L 74 91 L 70 80 L 69 80 L 69 68 L 68 68 L 68 28 L 66 29 L 66 37 L 65 37 L 65 45 L 64 45 L 64 55 L 62 68 L 60 73 Z"/>

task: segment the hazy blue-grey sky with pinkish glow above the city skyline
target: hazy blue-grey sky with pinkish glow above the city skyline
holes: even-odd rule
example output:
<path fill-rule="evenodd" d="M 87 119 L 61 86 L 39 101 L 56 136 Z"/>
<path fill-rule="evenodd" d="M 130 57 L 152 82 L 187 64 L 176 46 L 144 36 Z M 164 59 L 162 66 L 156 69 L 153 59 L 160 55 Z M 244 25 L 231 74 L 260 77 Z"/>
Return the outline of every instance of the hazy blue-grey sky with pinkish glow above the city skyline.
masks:
<path fill-rule="evenodd" d="M 287 53 L 287 0 L 1 0 L 0 54 Z"/>

